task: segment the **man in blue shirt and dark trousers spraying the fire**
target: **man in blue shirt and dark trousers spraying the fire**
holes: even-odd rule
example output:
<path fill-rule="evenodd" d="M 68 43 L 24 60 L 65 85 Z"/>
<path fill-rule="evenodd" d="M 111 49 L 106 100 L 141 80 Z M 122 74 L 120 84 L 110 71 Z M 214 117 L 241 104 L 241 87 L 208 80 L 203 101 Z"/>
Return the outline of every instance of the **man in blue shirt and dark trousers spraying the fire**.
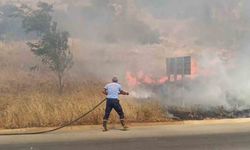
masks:
<path fill-rule="evenodd" d="M 123 129 L 126 130 L 127 126 L 124 122 L 124 113 L 122 110 L 122 107 L 119 103 L 119 94 L 122 95 L 129 95 L 128 92 L 125 92 L 122 90 L 121 85 L 118 83 L 117 77 L 113 77 L 112 82 L 107 84 L 104 87 L 103 93 L 106 95 L 107 101 L 106 101 L 106 109 L 105 109 L 105 115 L 103 117 L 103 131 L 108 131 L 107 123 L 109 119 L 110 112 L 114 108 L 117 114 L 120 116 L 120 121 L 123 126 Z"/>

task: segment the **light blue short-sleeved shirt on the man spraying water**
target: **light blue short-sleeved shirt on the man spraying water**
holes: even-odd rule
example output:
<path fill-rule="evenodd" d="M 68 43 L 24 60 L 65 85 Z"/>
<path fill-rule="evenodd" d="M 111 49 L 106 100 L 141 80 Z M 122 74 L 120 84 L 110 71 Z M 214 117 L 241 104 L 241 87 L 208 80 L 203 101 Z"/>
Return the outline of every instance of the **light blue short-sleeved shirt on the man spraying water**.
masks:
<path fill-rule="evenodd" d="M 107 98 L 118 99 L 122 86 L 119 83 L 112 82 L 107 84 L 104 89 L 107 91 Z"/>

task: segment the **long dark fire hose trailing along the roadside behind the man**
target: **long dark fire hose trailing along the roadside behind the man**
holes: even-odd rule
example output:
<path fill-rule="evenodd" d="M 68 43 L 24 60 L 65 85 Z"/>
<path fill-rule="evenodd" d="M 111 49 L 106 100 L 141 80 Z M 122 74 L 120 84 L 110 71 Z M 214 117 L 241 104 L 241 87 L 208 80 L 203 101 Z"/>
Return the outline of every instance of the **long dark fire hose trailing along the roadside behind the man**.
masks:
<path fill-rule="evenodd" d="M 87 116 L 89 113 L 91 113 L 92 111 L 94 111 L 96 108 L 98 108 L 102 103 L 104 103 L 106 101 L 106 99 L 102 100 L 101 102 L 99 102 L 97 105 L 95 105 L 92 109 L 90 109 L 89 111 L 87 111 L 86 113 L 82 114 L 81 116 L 79 116 L 78 118 L 76 118 L 75 120 L 70 121 L 69 123 L 63 124 L 59 127 L 56 127 L 54 129 L 50 129 L 50 130 L 44 130 L 44 131 L 38 131 L 38 132 L 24 132 L 24 133 L 0 133 L 0 136 L 8 136 L 8 135 L 34 135 L 34 134 L 44 134 L 44 133 L 49 133 L 49 132 L 53 132 L 53 131 L 57 131 L 60 130 L 64 127 L 70 126 L 73 123 L 79 121 L 80 119 L 84 118 L 85 116 Z"/>

